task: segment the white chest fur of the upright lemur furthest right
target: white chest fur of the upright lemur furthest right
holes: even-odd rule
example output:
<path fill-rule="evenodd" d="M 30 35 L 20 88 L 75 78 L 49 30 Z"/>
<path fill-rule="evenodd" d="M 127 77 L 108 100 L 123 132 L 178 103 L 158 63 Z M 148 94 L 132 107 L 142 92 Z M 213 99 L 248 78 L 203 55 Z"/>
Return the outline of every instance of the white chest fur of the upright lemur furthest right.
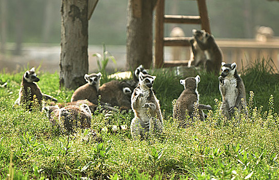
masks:
<path fill-rule="evenodd" d="M 224 80 L 224 86 L 226 87 L 226 95 L 225 98 L 229 104 L 229 107 L 232 107 L 235 103 L 237 97 L 237 88 L 236 88 L 236 79 L 226 79 Z"/>

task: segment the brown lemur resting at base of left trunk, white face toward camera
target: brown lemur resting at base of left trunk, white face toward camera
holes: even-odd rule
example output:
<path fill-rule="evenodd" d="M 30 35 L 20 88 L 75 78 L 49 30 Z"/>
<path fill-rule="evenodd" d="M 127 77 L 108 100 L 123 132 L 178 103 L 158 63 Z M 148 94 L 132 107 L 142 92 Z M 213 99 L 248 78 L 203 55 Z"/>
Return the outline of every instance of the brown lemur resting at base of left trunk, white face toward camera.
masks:
<path fill-rule="evenodd" d="M 87 99 L 92 103 L 97 102 L 97 92 L 99 89 L 99 83 L 102 74 L 91 74 L 91 75 L 84 75 L 84 79 L 87 81 L 86 84 L 78 87 L 71 98 L 71 102 L 77 100 Z"/>

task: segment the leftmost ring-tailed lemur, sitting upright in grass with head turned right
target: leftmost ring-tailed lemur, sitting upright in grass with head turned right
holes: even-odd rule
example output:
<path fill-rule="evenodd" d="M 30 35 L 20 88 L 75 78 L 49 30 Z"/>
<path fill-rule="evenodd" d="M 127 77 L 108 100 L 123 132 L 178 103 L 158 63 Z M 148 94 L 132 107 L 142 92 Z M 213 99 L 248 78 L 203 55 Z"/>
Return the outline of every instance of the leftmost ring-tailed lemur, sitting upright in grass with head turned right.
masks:
<path fill-rule="evenodd" d="M 26 105 L 26 108 L 31 111 L 32 103 L 35 99 L 38 101 L 39 105 L 42 105 L 42 100 L 52 100 L 57 102 L 57 99 L 52 96 L 46 95 L 41 92 L 39 86 L 35 83 L 38 82 L 39 78 L 35 73 L 35 68 L 27 70 L 22 77 L 21 89 L 19 89 L 18 98 L 15 100 L 14 104 Z"/>

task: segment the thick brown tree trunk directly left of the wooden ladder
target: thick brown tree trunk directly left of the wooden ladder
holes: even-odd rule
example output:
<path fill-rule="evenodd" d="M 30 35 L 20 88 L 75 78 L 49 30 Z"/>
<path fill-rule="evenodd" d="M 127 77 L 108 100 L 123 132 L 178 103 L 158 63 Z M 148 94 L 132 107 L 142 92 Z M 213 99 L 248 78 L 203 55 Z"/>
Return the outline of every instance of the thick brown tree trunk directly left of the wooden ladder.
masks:
<path fill-rule="evenodd" d="M 127 61 L 126 69 L 135 69 L 139 65 L 149 68 L 152 65 L 152 22 L 156 0 L 141 0 L 139 17 L 133 15 L 134 0 L 128 0 L 127 17 Z M 137 9 L 137 10 L 138 10 Z"/>

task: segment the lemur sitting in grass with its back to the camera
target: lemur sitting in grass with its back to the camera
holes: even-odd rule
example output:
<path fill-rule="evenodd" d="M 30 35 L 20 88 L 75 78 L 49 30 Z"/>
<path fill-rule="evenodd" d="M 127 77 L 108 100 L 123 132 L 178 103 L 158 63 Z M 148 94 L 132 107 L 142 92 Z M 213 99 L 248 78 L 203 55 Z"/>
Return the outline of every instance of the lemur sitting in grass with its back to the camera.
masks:
<path fill-rule="evenodd" d="M 197 92 L 197 84 L 201 81 L 200 76 L 195 78 L 189 77 L 180 80 L 180 83 L 184 86 L 184 91 L 181 93 L 180 97 L 176 100 L 173 107 L 173 118 L 180 121 L 181 125 L 186 118 L 186 110 L 190 118 L 193 118 L 194 103 L 198 105 L 198 110 L 201 120 L 204 120 L 205 114 L 203 110 L 212 110 L 210 105 L 199 104 L 198 100 L 200 95 Z"/>

